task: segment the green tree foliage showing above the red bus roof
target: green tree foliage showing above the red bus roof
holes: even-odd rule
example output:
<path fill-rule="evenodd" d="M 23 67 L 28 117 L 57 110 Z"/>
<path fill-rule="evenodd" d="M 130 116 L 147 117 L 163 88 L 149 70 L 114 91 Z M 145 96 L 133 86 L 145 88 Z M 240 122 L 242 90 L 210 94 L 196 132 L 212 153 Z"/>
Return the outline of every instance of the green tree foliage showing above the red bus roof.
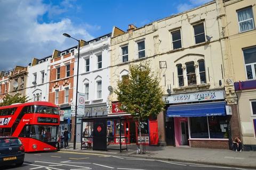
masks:
<path fill-rule="evenodd" d="M 27 102 L 28 96 L 22 96 L 21 94 L 15 94 L 14 96 L 7 94 L 0 106 L 8 106 L 14 103 L 25 103 Z"/>

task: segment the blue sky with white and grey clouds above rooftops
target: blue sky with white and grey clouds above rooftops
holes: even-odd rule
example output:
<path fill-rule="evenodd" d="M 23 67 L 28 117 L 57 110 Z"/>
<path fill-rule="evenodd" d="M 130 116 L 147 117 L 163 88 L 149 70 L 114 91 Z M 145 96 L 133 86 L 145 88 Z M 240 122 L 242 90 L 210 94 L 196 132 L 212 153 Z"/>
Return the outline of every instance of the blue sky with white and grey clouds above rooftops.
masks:
<path fill-rule="evenodd" d="M 116 26 L 145 24 L 211 0 L 0 0 L 0 71 L 28 66 L 77 41 L 105 35 Z"/>

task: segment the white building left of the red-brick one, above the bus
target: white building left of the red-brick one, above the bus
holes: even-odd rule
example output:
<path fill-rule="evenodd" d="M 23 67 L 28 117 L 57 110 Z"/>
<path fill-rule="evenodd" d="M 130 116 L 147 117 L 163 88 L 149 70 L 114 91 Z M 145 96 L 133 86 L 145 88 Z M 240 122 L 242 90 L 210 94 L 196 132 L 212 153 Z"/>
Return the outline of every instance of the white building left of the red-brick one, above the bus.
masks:
<path fill-rule="evenodd" d="M 41 59 L 33 58 L 28 66 L 26 95 L 30 101 L 49 100 L 51 56 Z"/>

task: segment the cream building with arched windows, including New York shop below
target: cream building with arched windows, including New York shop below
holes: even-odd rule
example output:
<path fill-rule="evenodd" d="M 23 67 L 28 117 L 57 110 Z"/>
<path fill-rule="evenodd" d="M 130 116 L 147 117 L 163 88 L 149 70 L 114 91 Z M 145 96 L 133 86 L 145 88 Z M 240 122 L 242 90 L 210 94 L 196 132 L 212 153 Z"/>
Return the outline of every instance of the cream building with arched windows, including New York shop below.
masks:
<path fill-rule="evenodd" d="M 220 8 L 213 1 L 141 28 L 129 25 L 111 39 L 114 89 L 116 80 L 129 74 L 130 63 L 150 60 L 159 72 L 166 107 L 157 117 L 158 127 L 148 125 L 149 132 L 157 129 L 158 145 L 228 149 L 233 129 L 239 130 L 237 106 L 225 101 L 230 95 L 225 92 Z M 114 94 L 110 100 L 112 107 L 118 102 Z"/>

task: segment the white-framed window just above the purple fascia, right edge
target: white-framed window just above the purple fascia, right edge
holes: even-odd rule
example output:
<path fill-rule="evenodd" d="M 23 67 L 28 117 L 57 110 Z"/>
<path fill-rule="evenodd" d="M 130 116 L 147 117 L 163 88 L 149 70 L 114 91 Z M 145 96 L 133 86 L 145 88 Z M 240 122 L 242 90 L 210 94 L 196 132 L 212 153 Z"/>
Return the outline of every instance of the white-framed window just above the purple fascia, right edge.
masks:
<path fill-rule="evenodd" d="M 256 47 L 243 50 L 247 80 L 256 79 Z"/>

